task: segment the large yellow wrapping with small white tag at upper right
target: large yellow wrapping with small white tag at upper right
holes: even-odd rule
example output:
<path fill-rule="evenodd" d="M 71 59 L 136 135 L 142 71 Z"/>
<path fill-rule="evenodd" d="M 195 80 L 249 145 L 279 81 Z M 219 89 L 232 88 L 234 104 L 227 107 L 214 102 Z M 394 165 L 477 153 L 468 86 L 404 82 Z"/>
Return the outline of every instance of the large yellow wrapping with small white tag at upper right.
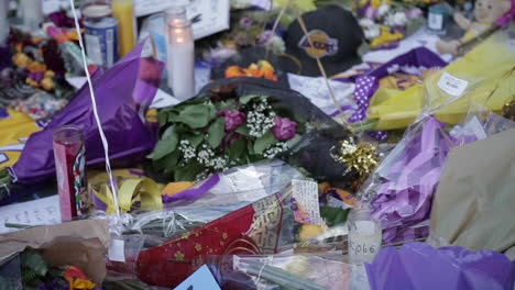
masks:
<path fill-rule="evenodd" d="M 439 109 L 436 116 L 446 123 L 462 122 L 471 101 L 479 102 L 494 112 L 501 112 L 504 103 L 515 94 L 515 49 L 504 32 L 497 32 L 479 44 L 461 59 L 429 76 L 426 89 L 415 85 L 405 90 L 380 88 L 369 107 L 369 119 L 377 120 L 374 130 L 406 127 L 420 114 L 425 98 L 430 108 L 449 101 L 449 94 L 437 86 L 443 71 L 469 81 L 464 96 Z M 427 92 L 425 92 L 427 90 Z"/>

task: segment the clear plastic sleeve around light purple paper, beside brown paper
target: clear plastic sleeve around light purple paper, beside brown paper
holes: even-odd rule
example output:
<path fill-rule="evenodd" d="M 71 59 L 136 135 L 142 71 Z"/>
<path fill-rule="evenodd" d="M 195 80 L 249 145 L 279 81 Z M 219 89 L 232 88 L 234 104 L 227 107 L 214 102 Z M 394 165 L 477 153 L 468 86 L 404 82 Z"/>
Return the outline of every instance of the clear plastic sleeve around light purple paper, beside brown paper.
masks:
<path fill-rule="evenodd" d="M 464 123 L 448 132 L 432 112 L 461 102 L 460 94 L 447 93 L 447 101 L 427 90 L 426 110 L 405 132 L 403 140 L 384 158 L 359 192 L 370 201 L 373 216 L 382 220 L 386 244 L 427 237 L 431 201 L 451 148 L 486 138 L 511 127 L 511 121 L 472 104 Z M 441 94 L 441 93 L 440 93 Z"/>

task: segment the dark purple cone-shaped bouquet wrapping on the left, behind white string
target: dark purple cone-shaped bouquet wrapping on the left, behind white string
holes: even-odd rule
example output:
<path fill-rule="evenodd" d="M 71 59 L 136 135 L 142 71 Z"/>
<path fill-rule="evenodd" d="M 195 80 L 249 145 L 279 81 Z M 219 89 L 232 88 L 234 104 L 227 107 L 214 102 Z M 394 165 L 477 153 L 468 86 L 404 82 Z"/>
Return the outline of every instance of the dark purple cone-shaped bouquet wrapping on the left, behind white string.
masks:
<path fill-rule="evenodd" d="M 163 64 L 141 57 L 144 43 L 106 72 L 92 76 L 98 114 L 109 142 L 112 166 L 138 165 L 156 141 L 154 130 L 144 123 L 144 112 L 161 81 Z M 13 181 L 34 183 L 55 175 L 52 132 L 69 124 L 84 131 L 88 166 L 105 161 L 86 83 L 44 131 L 31 135 L 20 159 L 10 170 Z"/>

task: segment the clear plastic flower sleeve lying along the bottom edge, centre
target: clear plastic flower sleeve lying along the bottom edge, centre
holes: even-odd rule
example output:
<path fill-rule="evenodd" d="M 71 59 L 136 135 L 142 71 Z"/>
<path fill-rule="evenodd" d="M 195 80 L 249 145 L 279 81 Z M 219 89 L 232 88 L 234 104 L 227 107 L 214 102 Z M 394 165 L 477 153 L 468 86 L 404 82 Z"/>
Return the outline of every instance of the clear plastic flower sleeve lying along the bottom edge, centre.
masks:
<path fill-rule="evenodd" d="M 349 288 L 343 256 L 281 253 L 271 256 L 212 256 L 208 266 L 223 289 L 327 289 Z"/>

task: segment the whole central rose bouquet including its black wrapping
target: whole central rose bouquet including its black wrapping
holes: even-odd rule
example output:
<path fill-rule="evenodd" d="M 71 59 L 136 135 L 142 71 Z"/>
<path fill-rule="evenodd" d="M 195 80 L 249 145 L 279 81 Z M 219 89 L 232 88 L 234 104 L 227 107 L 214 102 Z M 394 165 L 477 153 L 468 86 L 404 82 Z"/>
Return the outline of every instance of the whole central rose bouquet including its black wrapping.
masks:
<path fill-rule="evenodd" d="M 158 113 L 153 168 L 176 181 L 265 159 L 283 158 L 317 179 L 341 179 L 330 148 L 350 132 L 304 96 L 274 81 L 230 78 Z"/>

